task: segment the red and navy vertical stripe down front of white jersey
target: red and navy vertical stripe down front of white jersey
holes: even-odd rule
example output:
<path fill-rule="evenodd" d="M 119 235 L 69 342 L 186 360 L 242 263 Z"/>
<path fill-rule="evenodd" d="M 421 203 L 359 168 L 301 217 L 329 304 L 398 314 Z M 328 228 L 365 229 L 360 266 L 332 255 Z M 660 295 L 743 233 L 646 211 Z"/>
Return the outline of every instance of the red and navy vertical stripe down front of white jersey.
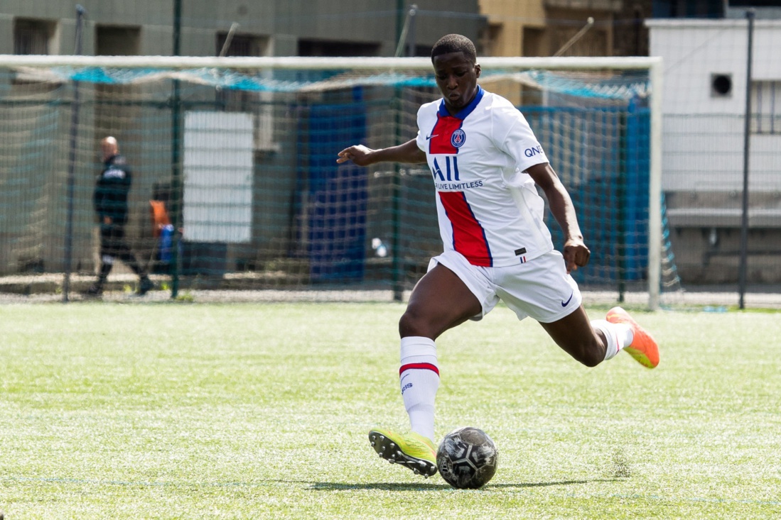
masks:
<path fill-rule="evenodd" d="M 455 157 L 458 155 L 460 145 L 456 147 L 453 143 L 453 133 L 462 128 L 464 119 L 474 111 L 481 99 L 483 99 L 483 89 L 478 87 L 475 98 L 456 115 L 450 114 L 444 100 L 441 102 L 437 112 L 437 122 L 429 133 L 429 154 L 453 156 L 454 171 L 453 177 L 451 177 L 451 161 L 450 157 L 446 157 L 444 162 L 447 164 L 447 179 L 441 177 L 442 172 L 437 168 L 437 172 L 433 172 L 435 182 L 438 176 L 443 181 L 461 180 L 458 178 L 458 161 Z M 462 133 L 463 135 L 465 134 Z M 466 139 L 468 138 L 469 136 L 466 136 Z M 434 161 L 436 162 L 436 159 Z M 440 191 L 438 195 L 453 228 L 453 249 L 464 255 L 466 260 L 469 260 L 469 264 L 491 267 L 493 258 L 490 254 L 485 230 L 475 217 L 472 207 L 469 206 L 466 193 L 463 191 Z"/>

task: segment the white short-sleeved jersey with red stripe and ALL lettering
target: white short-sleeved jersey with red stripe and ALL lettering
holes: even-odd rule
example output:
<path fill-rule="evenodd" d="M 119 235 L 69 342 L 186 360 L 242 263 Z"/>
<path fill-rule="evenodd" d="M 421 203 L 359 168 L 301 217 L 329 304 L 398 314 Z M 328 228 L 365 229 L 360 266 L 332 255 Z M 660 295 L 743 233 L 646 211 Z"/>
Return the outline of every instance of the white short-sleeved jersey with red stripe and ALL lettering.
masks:
<path fill-rule="evenodd" d="M 437 189 L 445 250 L 476 266 L 505 267 L 553 249 L 544 200 L 524 173 L 547 157 L 526 118 L 504 97 L 478 87 L 456 115 L 443 100 L 424 104 L 417 143 Z"/>

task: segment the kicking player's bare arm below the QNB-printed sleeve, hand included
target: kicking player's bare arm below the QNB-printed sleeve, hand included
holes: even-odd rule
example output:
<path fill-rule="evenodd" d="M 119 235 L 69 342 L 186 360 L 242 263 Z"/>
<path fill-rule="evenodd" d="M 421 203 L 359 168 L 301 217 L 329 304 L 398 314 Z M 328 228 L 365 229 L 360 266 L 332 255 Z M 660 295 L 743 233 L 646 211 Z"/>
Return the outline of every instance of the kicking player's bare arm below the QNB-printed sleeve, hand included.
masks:
<path fill-rule="evenodd" d="M 572 198 L 567 189 L 558 179 L 558 175 L 547 162 L 535 164 L 526 170 L 531 175 L 537 186 L 540 186 L 545 192 L 547 203 L 551 207 L 551 214 L 562 227 L 564 232 L 564 261 L 567 266 L 567 272 L 575 271 L 578 267 L 588 264 L 591 252 L 583 242 L 583 233 L 580 232 L 578 218 L 575 214 L 575 205 L 572 204 Z"/>

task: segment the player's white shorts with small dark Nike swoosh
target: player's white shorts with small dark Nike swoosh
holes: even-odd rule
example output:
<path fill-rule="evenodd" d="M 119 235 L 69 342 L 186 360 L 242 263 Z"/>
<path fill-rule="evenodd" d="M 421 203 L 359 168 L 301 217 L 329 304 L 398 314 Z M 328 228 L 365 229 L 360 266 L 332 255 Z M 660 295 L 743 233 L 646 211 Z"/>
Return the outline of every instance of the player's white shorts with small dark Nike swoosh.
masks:
<path fill-rule="evenodd" d="M 519 320 L 528 316 L 549 324 L 573 313 L 583 301 L 567 274 L 564 256 L 556 250 L 509 267 L 478 267 L 461 253 L 445 251 L 431 259 L 428 270 L 437 264 L 453 271 L 480 301 L 483 312 L 472 320 L 482 320 L 501 299 Z"/>

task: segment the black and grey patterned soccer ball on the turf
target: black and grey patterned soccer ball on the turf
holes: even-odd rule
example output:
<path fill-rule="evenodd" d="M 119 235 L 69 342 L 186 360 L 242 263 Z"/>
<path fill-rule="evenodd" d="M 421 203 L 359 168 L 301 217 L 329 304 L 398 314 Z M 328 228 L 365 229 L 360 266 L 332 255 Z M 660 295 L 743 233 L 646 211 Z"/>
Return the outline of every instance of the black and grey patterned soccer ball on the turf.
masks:
<path fill-rule="evenodd" d="M 499 451 L 479 428 L 464 426 L 444 436 L 437 449 L 437 469 L 445 481 L 459 490 L 476 490 L 496 472 Z"/>

